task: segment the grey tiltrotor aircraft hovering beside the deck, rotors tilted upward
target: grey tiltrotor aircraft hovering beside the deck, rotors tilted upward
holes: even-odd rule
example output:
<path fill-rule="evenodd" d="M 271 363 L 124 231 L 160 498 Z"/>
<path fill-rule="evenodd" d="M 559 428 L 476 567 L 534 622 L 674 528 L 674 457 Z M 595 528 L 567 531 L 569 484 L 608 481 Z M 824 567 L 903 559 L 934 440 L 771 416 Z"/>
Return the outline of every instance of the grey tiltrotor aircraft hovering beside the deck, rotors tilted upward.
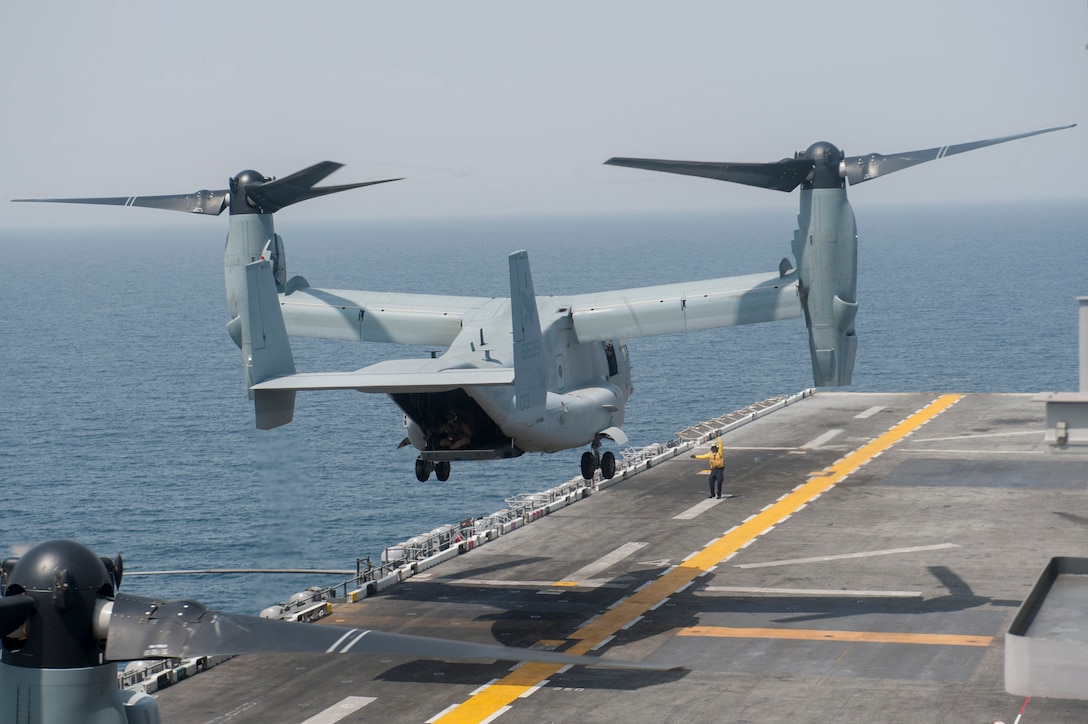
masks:
<path fill-rule="evenodd" d="M 358 390 L 390 395 L 405 413 L 407 442 L 419 451 L 416 477 L 449 477 L 453 461 L 516 457 L 590 445 L 581 471 L 616 471 L 601 443 L 628 440 L 631 394 L 626 341 L 804 316 L 817 386 L 850 384 L 857 338 L 857 231 L 846 182 L 1017 138 L 905 154 L 844 156 L 816 143 L 770 163 L 707 163 L 611 158 L 606 163 L 705 176 L 781 192 L 801 187 L 794 262 L 776 271 L 639 289 L 536 296 L 529 256 L 509 257 L 510 297 L 440 296 L 313 289 L 287 279 L 283 240 L 272 216 L 317 196 L 397 181 L 317 187 L 339 164 L 323 162 L 283 179 L 243 171 L 230 188 L 172 196 L 18 199 L 141 206 L 219 214 L 230 209 L 224 268 L 227 330 L 242 348 L 257 427 L 294 416 L 299 390 Z M 288 336 L 446 347 L 441 356 L 383 361 L 351 372 L 298 373 Z"/>

